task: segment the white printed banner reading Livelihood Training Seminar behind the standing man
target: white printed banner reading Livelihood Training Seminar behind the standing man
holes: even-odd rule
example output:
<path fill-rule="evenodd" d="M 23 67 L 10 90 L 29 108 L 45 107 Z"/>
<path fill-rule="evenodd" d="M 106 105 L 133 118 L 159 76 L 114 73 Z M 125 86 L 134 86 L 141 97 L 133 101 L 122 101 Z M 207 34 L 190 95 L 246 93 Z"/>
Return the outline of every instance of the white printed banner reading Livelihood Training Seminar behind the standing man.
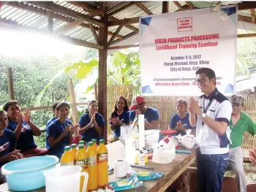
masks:
<path fill-rule="evenodd" d="M 237 7 L 140 18 L 143 96 L 199 96 L 197 69 L 208 67 L 226 96 L 236 86 Z"/>

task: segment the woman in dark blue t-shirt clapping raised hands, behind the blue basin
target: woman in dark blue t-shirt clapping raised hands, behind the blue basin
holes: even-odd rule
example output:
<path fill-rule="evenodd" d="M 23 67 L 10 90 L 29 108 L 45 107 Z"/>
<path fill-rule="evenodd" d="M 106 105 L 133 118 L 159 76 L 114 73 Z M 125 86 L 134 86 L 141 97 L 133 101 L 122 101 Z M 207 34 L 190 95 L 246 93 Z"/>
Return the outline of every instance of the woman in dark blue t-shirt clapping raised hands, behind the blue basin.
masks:
<path fill-rule="evenodd" d="M 48 153 L 47 149 L 38 148 L 34 142 L 34 136 L 40 136 L 41 130 L 31 121 L 28 110 L 23 116 L 18 101 L 14 100 L 7 101 L 3 109 L 7 112 L 9 119 L 7 128 L 15 133 L 17 149 L 24 157 L 40 156 Z"/>

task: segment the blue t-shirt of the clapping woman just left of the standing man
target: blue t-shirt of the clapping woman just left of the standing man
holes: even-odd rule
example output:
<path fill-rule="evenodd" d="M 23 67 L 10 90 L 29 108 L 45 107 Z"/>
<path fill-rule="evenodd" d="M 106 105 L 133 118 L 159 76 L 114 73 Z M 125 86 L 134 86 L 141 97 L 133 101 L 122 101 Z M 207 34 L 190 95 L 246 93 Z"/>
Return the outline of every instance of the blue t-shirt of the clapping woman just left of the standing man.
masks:
<path fill-rule="evenodd" d="M 189 123 L 189 113 L 188 113 L 188 112 L 187 112 L 187 115 L 186 115 L 185 118 L 181 118 L 181 117 L 178 115 L 178 113 L 177 113 L 177 114 L 174 114 L 174 115 L 172 116 L 172 118 L 170 119 L 170 128 L 171 128 L 171 129 L 175 129 L 179 120 L 181 120 L 181 123 L 182 123 L 183 126 L 184 126 L 185 124 L 187 124 L 187 126 L 184 126 L 184 128 L 190 128 L 190 129 L 195 128 L 195 127 L 190 126 L 190 123 Z M 178 131 L 177 134 L 184 135 L 184 134 L 186 134 L 186 133 L 185 133 L 185 131 Z"/>

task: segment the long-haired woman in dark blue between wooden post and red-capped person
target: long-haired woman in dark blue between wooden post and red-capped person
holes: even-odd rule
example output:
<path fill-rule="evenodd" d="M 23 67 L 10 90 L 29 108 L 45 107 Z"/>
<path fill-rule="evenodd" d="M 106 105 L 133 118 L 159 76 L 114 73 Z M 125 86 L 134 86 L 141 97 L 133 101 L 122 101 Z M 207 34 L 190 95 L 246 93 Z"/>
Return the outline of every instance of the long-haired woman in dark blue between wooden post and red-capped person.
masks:
<path fill-rule="evenodd" d="M 111 113 L 110 126 L 114 135 L 108 137 L 108 142 L 116 142 L 120 137 L 120 127 L 124 124 L 129 125 L 129 107 L 127 99 L 119 96 L 116 99 L 115 110 Z"/>

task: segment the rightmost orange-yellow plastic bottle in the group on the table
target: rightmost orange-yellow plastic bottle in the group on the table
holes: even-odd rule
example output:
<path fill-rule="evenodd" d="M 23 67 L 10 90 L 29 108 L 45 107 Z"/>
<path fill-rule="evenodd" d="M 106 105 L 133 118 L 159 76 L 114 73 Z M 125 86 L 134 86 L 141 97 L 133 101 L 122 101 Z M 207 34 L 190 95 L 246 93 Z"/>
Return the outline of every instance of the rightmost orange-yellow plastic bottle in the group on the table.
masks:
<path fill-rule="evenodd" d="M 97 169 L 98 169 L 98 185 L 103 187 L 108 184 L 108 148 L 105 140 L 99 140 L 97 148 Z"/>

